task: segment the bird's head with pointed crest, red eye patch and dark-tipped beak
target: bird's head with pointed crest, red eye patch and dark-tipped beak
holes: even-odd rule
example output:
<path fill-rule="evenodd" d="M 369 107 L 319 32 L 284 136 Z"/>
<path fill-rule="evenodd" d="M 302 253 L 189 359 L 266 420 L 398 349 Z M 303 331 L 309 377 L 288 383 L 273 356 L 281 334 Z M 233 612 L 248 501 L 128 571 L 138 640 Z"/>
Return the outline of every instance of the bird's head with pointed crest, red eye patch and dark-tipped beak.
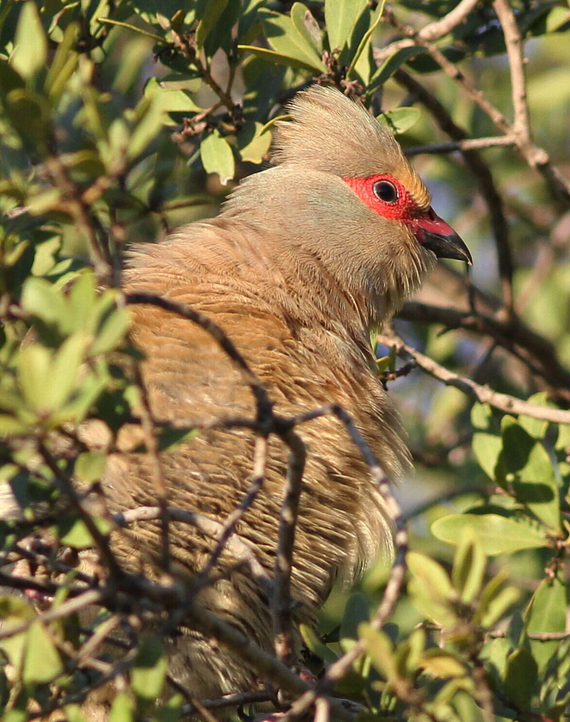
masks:
<path fill-rule="evenodd" d="M 315 85 L 289 114 L 276 126 L 277 167 L 248 178 L 235 201 L 255 199 L 266 227 L 318 256 L 373 316 L 400 305 L 436 258 L 471 262 L 392 134 L 364 108 Z"/>

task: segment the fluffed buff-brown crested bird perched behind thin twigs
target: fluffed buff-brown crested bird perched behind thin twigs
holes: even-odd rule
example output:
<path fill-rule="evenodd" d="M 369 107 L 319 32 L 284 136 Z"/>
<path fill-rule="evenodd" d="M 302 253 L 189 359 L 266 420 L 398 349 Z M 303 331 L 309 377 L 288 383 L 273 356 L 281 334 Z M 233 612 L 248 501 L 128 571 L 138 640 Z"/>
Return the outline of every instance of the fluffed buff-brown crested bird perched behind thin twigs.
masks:
<path fill-rule="evenodd" d="M 379 383 L 370 334 L 421 284 L 437 258 L 470 263 L 457 233 L 390 131 L 361 105 L 313 85 L 276 123 L 271 168 L 237 184 L 221 212 L 159 243 L 139 243 L 123 271 L 127 294 L 185 304 L 214 321 L 258 375 L 281 417 L 331 402 L 354 420 L 390 479 L 411 469 L 405 433 Z M 161 422 L 255 416 L 239 370 L 200 326 L 165 308 L 131 306 L 131 340 L 143 355 L 149 410 Z M 299 426 L 307 450 L 291 570 L 295 640 L 315 624 L 334 583 L 354 583 L 394 553 L 393 522 L 367 464 L 333 417 Z M 102 490 L 112 513 L 156 505 L 152 459 L 128 451 L 126 431 L 110 453 Z M 129 444 L 131 444 L 129 446 Z M 170 507 L 224 523 L 250 484 L 255 433 L 205 428 L 160 455 Z M 271 577 L 287 470 L 286 446 L 271 436 L 266 475 L 236 534 Z M 157 574 L 159 521 L 120 534 L 132 568 Z M 170 522 L 172 568 L 195 576 L 214 541 Z M 273 649 L 266 591 L 225 549 L 218 576 L 198 603 L 266 651 Z M 154 571 L 153 571 L 154 569 Z M 196 699 L 255 689 L 239 654 L 182 623 L 167 640 L 170 675 Z"/>

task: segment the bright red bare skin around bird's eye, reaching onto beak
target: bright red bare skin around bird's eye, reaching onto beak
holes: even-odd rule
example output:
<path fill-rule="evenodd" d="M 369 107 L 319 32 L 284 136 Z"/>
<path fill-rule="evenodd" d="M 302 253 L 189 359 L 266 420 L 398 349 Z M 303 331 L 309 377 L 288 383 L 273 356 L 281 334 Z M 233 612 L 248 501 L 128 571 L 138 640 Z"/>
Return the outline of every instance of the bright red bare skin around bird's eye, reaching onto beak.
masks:
<path fill-rule="evenodd" d="M 455 235 L 452 227 L 440 218 L 431 206 L 427 210 L 419 208 L 410 193 L 393 175 L 379 173 L 369 175 L 368 178 L 343 178 L 343 181 L 378 215 L 409 225 L 418 243 L 424 243 L 426 232 L 442 236 Z M 398 198 L 393 203 L 382 201 L 376 196 L 373 188 L 378 181 L 389 181 L 395 186 Z"/>

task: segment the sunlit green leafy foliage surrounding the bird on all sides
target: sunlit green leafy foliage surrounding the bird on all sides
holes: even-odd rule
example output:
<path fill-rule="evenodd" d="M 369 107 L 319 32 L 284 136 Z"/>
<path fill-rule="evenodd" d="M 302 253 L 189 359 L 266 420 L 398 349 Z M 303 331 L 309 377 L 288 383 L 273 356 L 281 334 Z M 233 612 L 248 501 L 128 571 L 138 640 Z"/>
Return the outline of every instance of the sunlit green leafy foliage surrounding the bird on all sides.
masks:
<path fill-rule="evenodd" d="M 113 575 L 108 536 L 118 520 L 98 503 L 97 482 L 144 396 L 120 292 L 123 251 L 213 214 L 239 178 L 268 160 L 273 122 L 315 79 L 360 98 L 411 155 L 421 153 L 434 196 L 447 201 L 447 216 L 455 212 L 473 251 L 475 284 L 468 300 L 462 279 L 457 285 L 455 271 L 442 266 L 420 299 L 424 306 L 404 308 L 402 318 L 412 323 L 397 328 L 424 355 L 406 352 L 394 336 L 380 338 L 387 347 L 378 349 L 380 380 L 398 389 L 416 484 L 435 501 L 418 496 L 408 512 L 408 586 L 393 599 L 391 622 L 382 630 L 374 623 L 387 581 L 379 566 L 358 590 L 333 593 L 322 638 L 304 628 L 305 664 L 323 674 L 360 644 L 362 653 L 333 681 L 336 695 L 361 705 L 363 719 L 567 715 L 570 425 L 548 413 L 564 413 L 570 399 L 570 204 L 553 165 L 569 165 L 561 118 L 570 94 L 559 66 L 570 61 L 570 10 L 558 1 L 522 0 L 512 4 L 513 29 L 504 1 L 473 3 L 454 24 L 450 12 L 463 5 L 2 4 L 6 722 L 53 710 L 79 721 L 87 691 L 118 675 L 123 691 L 110 710 L 113 722 L 175 720 L 190 710 L 183 690 L 165 684 L 159 639 L 141 626 L 143 612 L 159 617 L 156 609 L 131 604 L 124 589 L 123 607 L 114 606 L 113 595 L 100 591 L 100 575 Z M 439 35 L 433 27 L 431 34 L 410 31 L 439 21 Z M 506 126 L 494 113 L 512 113 L 509 81 L 521 82 L 516 53 L 508 69 L 503 58 L 517 32 L 534 38 L 527 87 L 535 140 L 526 100 L 513 96 L 514 121 Z M 451 147 L 425 147 L 442 132 Z M 486 144 L 469 145 L 493 132 Z M 464 155 L 442 155 L 457 149 Z M 454 305 L 460 313 L 450 321 Z M 455 384 L 460 391 L 438 388 L 410 373 L 416 366 L 446 383 L 442 369 L 462 381 L 474 368 L 478 383 L 467 395 L 465 383 Z M 483 398 L 487 380 L 494 391 Z M 529 401 L 528 414 L 508 412 L 513 396 Z M 105 442 L 87 448 L 82 428 L 97 419 Z M 151 436 L 162 451 L 188 440 L 189 431 L 155 425 Z M 88 492 L 79 495 L 75 482 Z M 405 488 L 411 495 L 413 482 Z M 94 548 L 97 561 L 86 572 L 79 560 Z M 144 596 L 140 583 L 135 591 Z M 98 601 L 103 611 L 85 628 L 76 600 L 89 593 L 100 596 L 86 604 Z M 101 643 L 121 625 L 128 633 L 127 641 L 115 640 L 117 661 Z"/>

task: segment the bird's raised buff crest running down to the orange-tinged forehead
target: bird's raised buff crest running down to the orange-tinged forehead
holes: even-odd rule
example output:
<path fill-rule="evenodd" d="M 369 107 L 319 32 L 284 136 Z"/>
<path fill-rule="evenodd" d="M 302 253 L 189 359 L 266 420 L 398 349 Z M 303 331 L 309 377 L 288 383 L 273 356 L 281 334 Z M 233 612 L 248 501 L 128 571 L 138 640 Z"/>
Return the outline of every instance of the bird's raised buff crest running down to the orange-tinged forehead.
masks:
<path fill-rule="evenodd" d="M 429 207 L 429 191 L 390 131 L 341 92 L 312 85 L 297 94 L 288 110 L 291 121 L 276 123 L 274 162 L 341 178 L 393 175 L 418 207 Z"/>

